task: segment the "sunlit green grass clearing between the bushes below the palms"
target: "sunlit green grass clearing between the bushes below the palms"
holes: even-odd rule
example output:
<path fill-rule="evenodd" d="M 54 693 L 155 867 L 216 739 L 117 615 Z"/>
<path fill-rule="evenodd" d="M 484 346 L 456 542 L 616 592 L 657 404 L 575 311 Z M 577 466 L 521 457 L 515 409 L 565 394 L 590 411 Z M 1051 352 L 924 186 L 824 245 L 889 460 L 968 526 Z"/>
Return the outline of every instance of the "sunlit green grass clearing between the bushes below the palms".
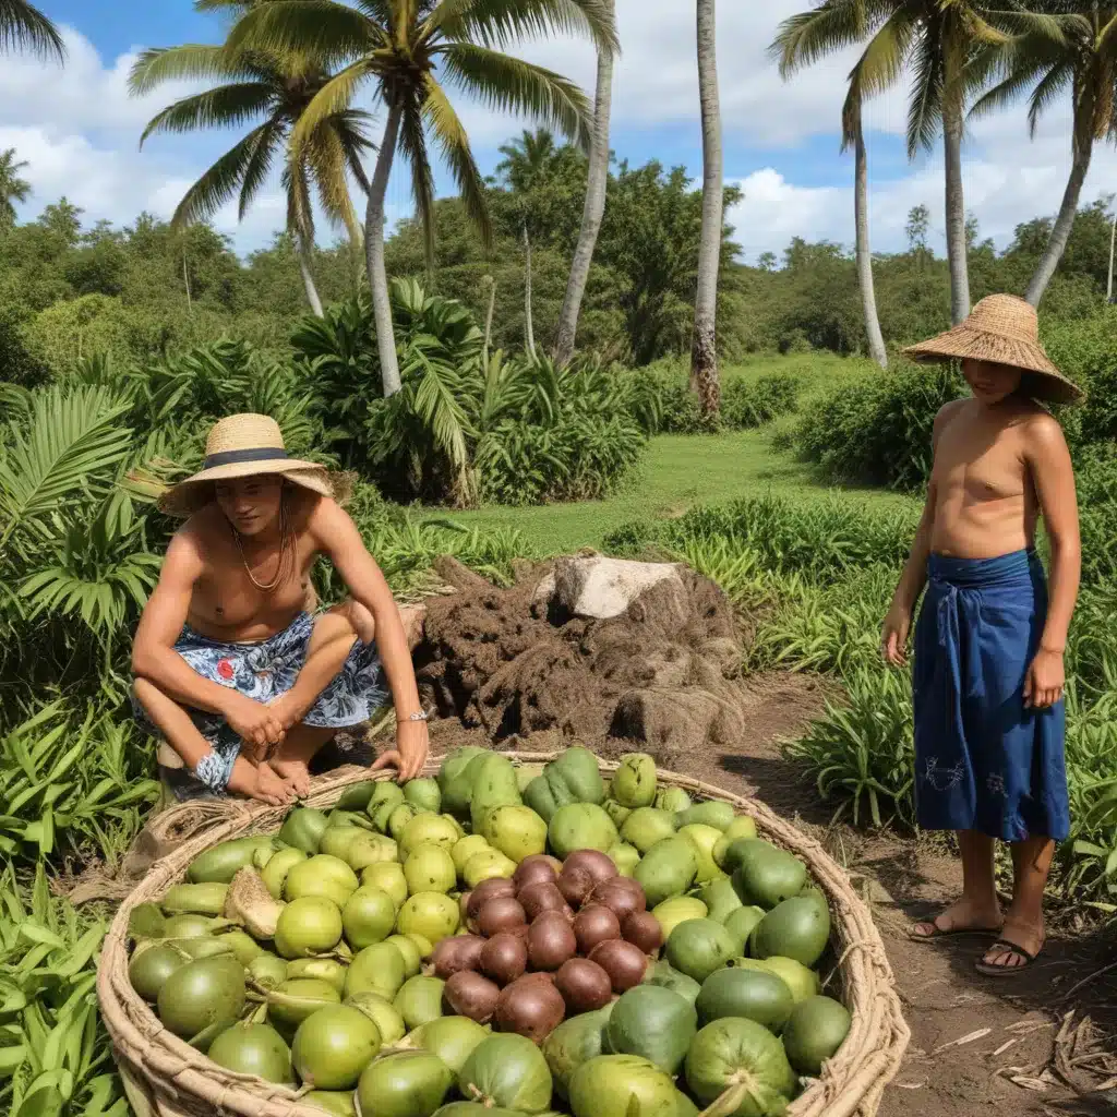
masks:
<path fill-rule="evenodd" d="M 724 370 L 726 378 L 750 379 L 773 372 L 801 375 L 811 392 L 833 384 L 836 378 L 863 375 L 875 367 L 865 361 L 808 354 L 756 357 Z M 794 420 L 789 416 L 787 420 Z M 784 421 L 787 421 L 784 420 Z M 607 500 L 508 508 L 490 506 L 452 513 L 466 527 L 515 527 L 543 554 L 580 547 L 600 547 L 621 524 L 641 517 L 680 516 L 696 505 L 716 505 L 743 496 L 772 493 L 811 500 L 834 491 L 817 483 L 811 468 L 790 454 L 772 449 L 773 428 L 726 435 L 660 435 L 651 440 L 640 472 L 624 490 Z M 855 490 L 849 490 L 855 491 Z M 903 504 L 910 498 L 877 489 L 858 489 L 858 498 L 880 504 Z M 423 518 L 445 517 L 431 510 Z"/>

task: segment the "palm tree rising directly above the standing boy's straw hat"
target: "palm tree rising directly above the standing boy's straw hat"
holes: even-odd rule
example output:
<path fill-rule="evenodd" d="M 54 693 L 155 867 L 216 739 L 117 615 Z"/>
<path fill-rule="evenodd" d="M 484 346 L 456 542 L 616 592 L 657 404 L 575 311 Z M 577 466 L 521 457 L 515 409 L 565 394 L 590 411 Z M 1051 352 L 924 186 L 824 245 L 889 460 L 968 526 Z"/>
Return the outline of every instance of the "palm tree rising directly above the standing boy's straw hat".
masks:
<path fill-rule="evenodd" d="M 946 255 L 951 270 L 951 316 L 970 313 L 966 212 L 962 189 L 962 136 L 968 95 L 984 84 L 991 48 L 1009 37 L 986 19 L 983 0 L 823 0 L 781 26 L 773 48 L 790 49 L 799 65 L 815 61 L 869 38 L 855 67 L 859 99 L 911 76 L 907 147 L 914 159 L 939 134 L 946 183 Z M 975 56 L 984 66 L 971 65 Z M 856 143 L 855 143 L 856 149 Z"/>

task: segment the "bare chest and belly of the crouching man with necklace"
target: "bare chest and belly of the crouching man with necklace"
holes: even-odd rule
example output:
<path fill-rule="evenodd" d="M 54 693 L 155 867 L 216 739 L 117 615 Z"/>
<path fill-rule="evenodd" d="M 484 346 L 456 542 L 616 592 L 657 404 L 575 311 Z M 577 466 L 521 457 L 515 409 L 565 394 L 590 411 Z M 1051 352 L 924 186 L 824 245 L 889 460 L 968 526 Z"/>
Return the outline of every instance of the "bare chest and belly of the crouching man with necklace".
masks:
<path fill-rule="evenodd" d="M 216 504 L 192 516 L 182 531 L 195 543 L 203 570 L 194 583 L 187 623 L 212 640 L 254 642 L 281 632 L 300 612 L 315 609 L 317 595 L 311 582 L 311 570 L 318 547 L 307 531 L 309 512 L 307 500 L 298 498 L 295 502 L 292 515 L 294 573 L 288 565 L 288 575 L 270 591 L 254 585 L 248 571 L 260 585 L 270 585 L 278 563 L 275 544 L 261 551 L 245 541 L 241 555 L 232 527 Z"/>

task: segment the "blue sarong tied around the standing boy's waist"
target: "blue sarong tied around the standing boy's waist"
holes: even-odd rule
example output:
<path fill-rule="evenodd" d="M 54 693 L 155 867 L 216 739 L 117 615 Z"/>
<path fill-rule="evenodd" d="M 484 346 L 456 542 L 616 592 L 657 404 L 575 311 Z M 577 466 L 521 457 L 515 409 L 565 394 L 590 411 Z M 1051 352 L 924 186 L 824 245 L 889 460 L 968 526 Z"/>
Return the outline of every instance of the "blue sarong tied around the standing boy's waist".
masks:
<path fill-rule="evenodd" d="M 1024 706 L 1047 620 L 1034 551 L 933 554 L 915 631 L 915 798 L 927 830 L 1004 841 L 1070 831 L 1066 709 Z"/>

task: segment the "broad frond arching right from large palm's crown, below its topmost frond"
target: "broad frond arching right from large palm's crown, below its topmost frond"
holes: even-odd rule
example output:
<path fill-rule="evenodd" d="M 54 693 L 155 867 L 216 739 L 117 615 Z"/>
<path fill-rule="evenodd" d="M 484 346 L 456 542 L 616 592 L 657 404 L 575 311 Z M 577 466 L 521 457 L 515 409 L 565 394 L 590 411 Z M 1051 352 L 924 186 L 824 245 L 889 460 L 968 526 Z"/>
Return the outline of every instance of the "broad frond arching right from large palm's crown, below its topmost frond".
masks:
<path fill-rule="evenodd" d="M 593 109 L 569 78 L 468 42 L 447 46 L 443 61 L 447 78 L 494 112 L 529 116 L 583 147 L 589 145 Z"/>

